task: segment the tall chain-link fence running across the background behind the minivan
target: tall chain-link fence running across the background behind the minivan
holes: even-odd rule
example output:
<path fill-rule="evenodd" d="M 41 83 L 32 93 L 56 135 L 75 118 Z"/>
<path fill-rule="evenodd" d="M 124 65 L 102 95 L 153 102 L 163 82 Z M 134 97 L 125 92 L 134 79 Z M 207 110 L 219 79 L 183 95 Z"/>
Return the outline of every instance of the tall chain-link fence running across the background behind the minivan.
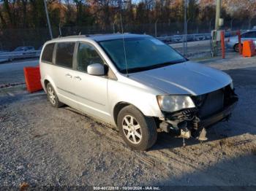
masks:
<path fill-rule="evenodd" d="M 125 25 L 124 32 L 135 34 L 149 34 L 156 36 L 167 43 L 184 42 L 184 23 L 150 23 L 142 25 Z M 253 20 L 225 20 L 222 29 L 226 31 L 226 36 L 230 36 L 231 31 L 249 30 L 256 26 L 256 19 Z M 187 21 L 187 41 L 202 41 L 210 39 L 211 30 L 214 29 L 214 20 L 206 22 Z M 99 26 L 60 26 L 53 27 L 53 37 L 70 36 L 78 34 L 113 34 L 121 33 L 121 24 L 112 23 L 104 28 Z M 0 31 L 0 51 L 12 51 L 16 47 L 32 46 L 36 50 L 42 47 L 50 39 L 48 27 L 45 28 L 18 28 L 5 29 Z M 208 43 L 210 49 L 210 43 Z M 189 52 L 188 52 L 189 53 Z"/>

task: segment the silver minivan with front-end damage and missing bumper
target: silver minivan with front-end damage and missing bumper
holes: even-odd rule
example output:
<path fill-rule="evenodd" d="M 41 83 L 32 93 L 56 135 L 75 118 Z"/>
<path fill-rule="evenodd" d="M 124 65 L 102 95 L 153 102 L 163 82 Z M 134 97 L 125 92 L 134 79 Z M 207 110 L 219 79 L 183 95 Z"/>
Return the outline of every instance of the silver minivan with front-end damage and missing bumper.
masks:
<path fill-rule="evenodd" d="M 39 66 L 52 106 L 116 125 L 132 149 L 152 147 L 157 131 L 206 140 L 206 128 L 227 120 L 238 101 L 230 76 L 148 35 L 53 39 Z"/>

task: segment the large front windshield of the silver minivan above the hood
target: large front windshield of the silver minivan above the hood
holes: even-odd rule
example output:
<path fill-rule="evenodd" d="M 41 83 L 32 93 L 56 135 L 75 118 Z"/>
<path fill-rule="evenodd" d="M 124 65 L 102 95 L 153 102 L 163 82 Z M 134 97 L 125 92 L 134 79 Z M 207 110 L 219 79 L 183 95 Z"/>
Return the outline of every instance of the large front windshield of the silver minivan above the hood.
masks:
<path fill-rule="evenodd" d="M 121 73 L 156 69 L 187 61 L 167 44 L 153 37 L 114 39 L 99 42 Z M 127 57 L 125 63 L 124 47 Z"/>

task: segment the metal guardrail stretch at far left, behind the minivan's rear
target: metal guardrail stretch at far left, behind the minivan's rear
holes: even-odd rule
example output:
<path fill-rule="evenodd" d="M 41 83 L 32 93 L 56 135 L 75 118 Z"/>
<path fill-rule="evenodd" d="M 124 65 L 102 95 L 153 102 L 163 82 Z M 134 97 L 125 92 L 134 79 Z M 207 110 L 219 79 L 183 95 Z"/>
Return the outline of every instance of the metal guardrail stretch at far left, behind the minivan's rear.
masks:
<path fill-rule="evenodd" d="M 41 50 L 27 50 L 16 52 L 0 52 L 0 62 L 13 61 L 18 58 L 36 58 L 41 54 Z"/>

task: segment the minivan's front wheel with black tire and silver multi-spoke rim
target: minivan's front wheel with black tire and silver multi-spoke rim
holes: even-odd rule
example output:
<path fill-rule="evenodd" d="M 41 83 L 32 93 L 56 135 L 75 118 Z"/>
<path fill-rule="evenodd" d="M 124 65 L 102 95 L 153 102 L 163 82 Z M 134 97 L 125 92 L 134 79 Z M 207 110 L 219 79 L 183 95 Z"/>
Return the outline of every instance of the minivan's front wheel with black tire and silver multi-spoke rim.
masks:
<path fill-rule="evenodd" d="M 117 125 L 124 141 L 135 150 L 146 150 L 157 141 L 153 117 L 144 116 L 135 106 L 125 106 L 118 113 Z"/>

